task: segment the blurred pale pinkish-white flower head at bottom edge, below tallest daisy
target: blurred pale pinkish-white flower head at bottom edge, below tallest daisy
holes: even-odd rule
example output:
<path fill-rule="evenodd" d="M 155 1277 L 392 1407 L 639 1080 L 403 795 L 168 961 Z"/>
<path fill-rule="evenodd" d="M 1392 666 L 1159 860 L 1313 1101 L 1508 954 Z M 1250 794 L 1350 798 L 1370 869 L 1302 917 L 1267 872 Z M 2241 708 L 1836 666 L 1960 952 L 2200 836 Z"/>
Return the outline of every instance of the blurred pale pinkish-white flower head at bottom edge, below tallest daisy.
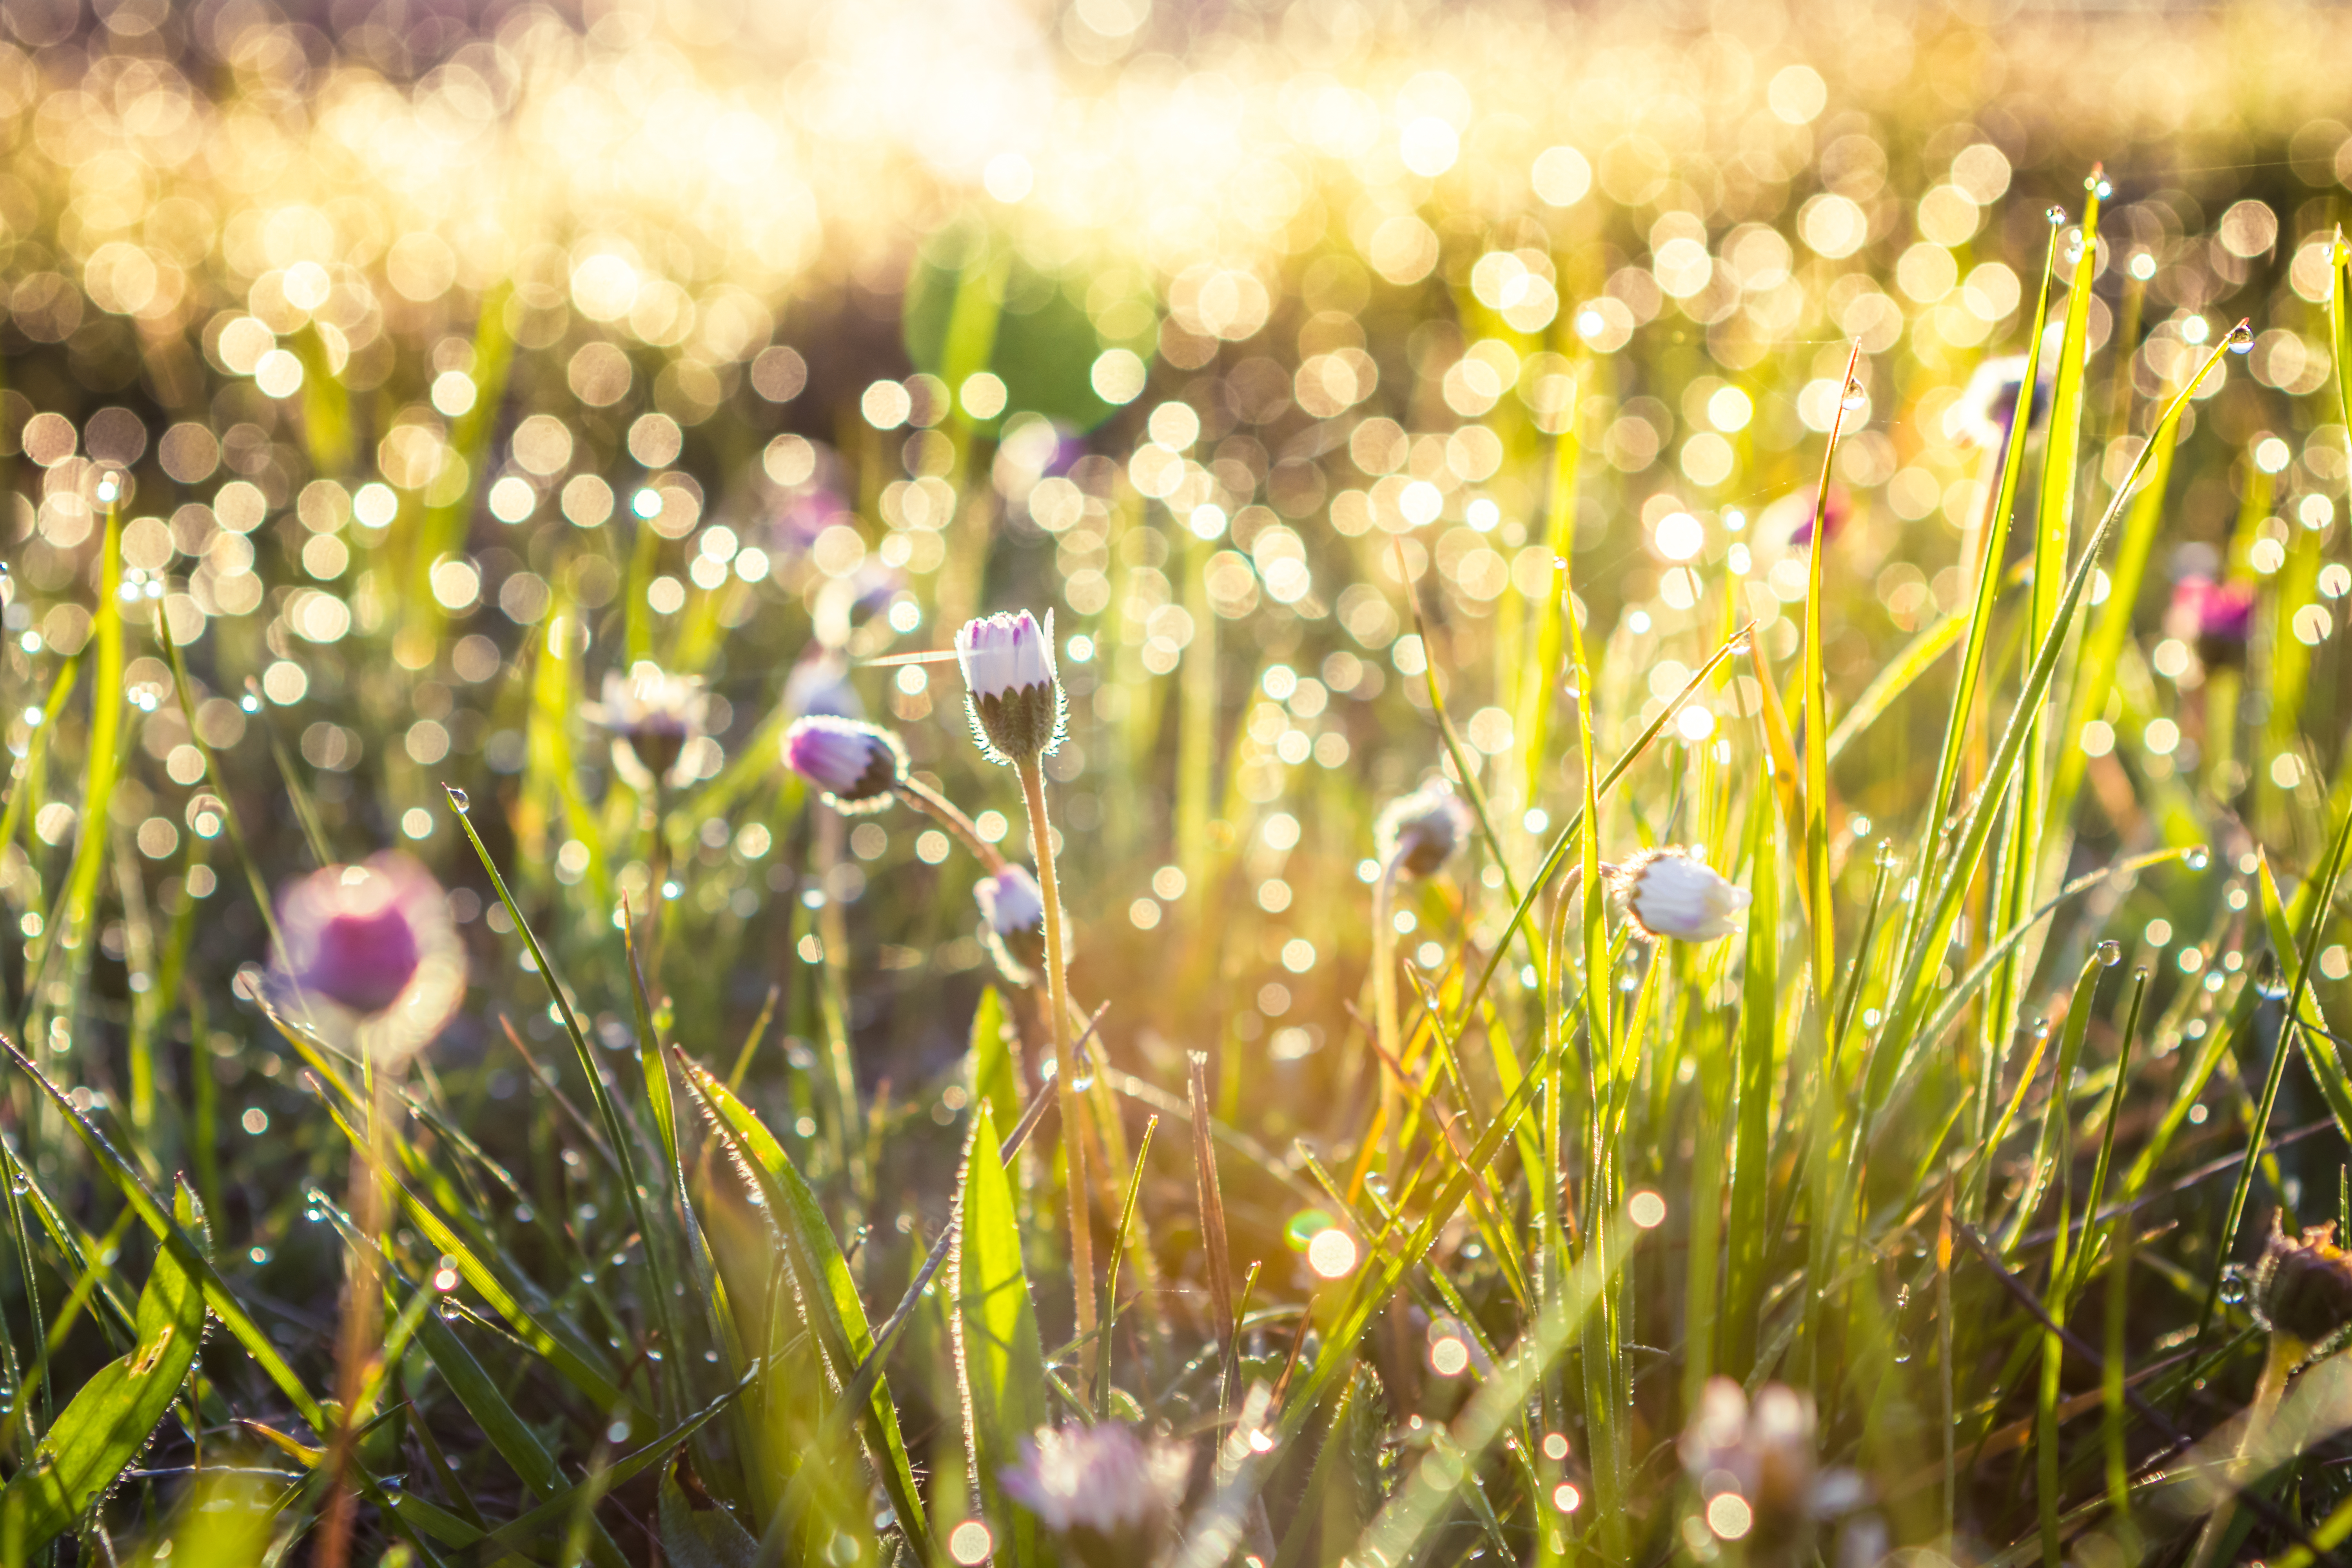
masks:
<path fill-rule="evenodd" d="M 1192 1453 L 1122 1422 L 1040 1427 L 1004 1493 L 1061 1535 L 1089 1568 L 1143 1568 L 1174 1537 Z"/>

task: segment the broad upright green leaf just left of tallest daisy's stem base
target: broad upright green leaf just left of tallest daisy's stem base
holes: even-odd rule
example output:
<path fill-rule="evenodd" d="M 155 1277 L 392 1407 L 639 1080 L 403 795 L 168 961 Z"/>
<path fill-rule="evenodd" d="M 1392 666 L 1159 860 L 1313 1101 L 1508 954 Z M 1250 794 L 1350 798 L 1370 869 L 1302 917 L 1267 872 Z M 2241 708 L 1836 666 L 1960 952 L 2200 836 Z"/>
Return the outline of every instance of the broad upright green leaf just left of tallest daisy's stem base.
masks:
<path fill-rule="evenodd" d="M 1007 1505 L 997 1476 L 1014 1462 L 1018 1441 L 1047 1420 L 1044 1347 L 1021 1267 L 1014 1187 L 997 1157 L 997 1124 L 985 1103 L 976 1112 L 964 1152 L 962 1225 L 953 1258 L 955 1305 L 948 1324 L 976 1500 L 1007 1559 L 1025 1568 L 1044 1563 L 1047 1552 L 1037 1540 L 1037 1521 L 1028 1509 Z"/>

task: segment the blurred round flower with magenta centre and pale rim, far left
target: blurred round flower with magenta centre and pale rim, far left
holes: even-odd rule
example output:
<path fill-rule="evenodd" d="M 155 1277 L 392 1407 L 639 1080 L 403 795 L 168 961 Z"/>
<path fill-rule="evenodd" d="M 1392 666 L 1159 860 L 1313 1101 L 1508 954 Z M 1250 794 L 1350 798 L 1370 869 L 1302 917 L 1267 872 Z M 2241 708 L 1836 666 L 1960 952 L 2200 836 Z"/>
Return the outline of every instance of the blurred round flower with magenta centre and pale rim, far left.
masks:
<path fill-rule="evenodd" d="M 466 947 L 447 893 L 402 853 L 289 884 L 278 896 L 278 1004 L 374 1060 L 414 1056 L 466 997 Z"/>

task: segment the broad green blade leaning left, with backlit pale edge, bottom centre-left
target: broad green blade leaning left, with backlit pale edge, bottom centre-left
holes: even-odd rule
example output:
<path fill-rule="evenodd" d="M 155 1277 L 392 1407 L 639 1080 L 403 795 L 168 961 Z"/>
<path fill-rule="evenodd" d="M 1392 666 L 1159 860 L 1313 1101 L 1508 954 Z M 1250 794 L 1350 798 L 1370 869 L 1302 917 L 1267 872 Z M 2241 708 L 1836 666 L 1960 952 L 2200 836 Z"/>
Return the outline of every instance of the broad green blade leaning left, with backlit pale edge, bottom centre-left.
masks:
<path fill-rule="evenodd" d="M 816 1333 L 835 1375 L 849 1382 L 873 1354 L 875 1340 L 866 1319 L 866 1302 L 858 1300 L 856 1281 L 849 1276 L 849 1262 L 842 1258 L 840 1241 L 835 1241 L 833 1227 L 826 1222 L 823 1206 L 783 1152 L 783 1145 L 767 1131 L 767 1124 L 684 1051 L 675 1051 L 675 1056 L 687 1088 L 710 1117 L 710 1126 L 734 1147 L 750 1178 L 760 1185 L 767 1199 L 767 1218 L 783 1234 L 786 1255 L 800 1276 L 800 1305 L 807 1312 L 809 1331 Z M 898 1434 L 898 1406 L 891 1401 L 889 1385 L 882 1378 L 875 1380 L 866 1406 L 858 1410 L 858 1425 L 875 1458 L 882 1490 L 889 1493 L 891 1507 L 908 1530 L 908 1540 L 924 1540 L 929 1526 L 924 1523 L 922 1493 L 908 1465 L 906 1439 Z"/>

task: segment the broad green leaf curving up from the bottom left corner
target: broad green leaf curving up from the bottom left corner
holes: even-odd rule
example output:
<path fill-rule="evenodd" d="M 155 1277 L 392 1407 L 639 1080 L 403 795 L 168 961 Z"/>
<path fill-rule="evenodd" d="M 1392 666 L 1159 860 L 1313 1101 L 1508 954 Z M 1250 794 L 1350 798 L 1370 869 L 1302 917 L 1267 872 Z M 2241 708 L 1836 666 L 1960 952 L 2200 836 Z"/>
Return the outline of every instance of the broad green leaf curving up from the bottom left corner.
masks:
<path fill-rule="evenodd" d="M 172 1218 L 191 1237 L 205 1234 L 195 1192 L 179 1185 Z M 139 1293 L 139 1342 L 66 1403 L 40 1446 L 0 1493 L 9 1514 L 7 1533 L 38 1552 L 115 1483 L 146 1450 L 148 1436 L 172 1410 L 205 1340 L 205 1286 L 169 1246 L 155 1248 L 155 1267 Z"/>

